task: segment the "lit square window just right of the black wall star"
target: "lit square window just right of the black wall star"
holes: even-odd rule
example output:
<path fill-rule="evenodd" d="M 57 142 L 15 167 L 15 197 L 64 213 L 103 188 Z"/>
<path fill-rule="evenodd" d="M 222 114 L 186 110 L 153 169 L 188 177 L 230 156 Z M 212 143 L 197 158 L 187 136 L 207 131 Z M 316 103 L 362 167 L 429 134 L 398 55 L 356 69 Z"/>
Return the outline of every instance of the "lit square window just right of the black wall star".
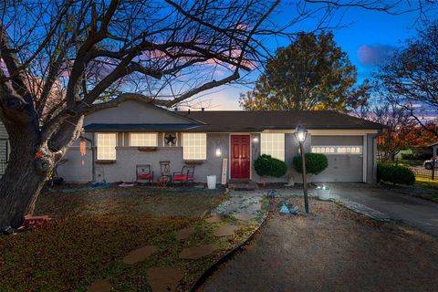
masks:
<path fill-rule="evenodd" d="M 207 159 L 207 134 L 183 133 L 183 160 Z"/>

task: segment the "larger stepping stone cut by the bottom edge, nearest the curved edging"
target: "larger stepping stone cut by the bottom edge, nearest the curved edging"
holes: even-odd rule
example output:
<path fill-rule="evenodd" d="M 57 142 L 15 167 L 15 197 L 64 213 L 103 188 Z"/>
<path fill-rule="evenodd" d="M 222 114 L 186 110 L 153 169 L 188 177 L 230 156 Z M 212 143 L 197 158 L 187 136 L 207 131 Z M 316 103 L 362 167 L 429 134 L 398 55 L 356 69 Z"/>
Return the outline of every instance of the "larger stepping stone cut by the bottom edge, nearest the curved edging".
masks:
<path fill-rule="evenodd" d="M 175 291 L 178 282 L 183 279 L 183 272 L 173 267 L 151 267 L 146 272 L 146 278 L 152 292 Z"/>

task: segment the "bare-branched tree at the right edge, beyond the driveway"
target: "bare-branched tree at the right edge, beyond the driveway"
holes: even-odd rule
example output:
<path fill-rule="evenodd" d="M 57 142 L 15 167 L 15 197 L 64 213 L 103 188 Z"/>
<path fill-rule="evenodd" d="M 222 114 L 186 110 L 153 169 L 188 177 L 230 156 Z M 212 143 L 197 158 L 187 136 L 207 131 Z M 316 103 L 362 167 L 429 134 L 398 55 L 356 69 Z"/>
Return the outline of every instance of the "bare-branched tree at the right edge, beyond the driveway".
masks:
<path fill-rule="evenodd" d="M 438 22 L 408 40 L 407 47 L 381 65 L 376 78 L 381 96 L 438 137 L 424 119 L 438 113 Z"/>

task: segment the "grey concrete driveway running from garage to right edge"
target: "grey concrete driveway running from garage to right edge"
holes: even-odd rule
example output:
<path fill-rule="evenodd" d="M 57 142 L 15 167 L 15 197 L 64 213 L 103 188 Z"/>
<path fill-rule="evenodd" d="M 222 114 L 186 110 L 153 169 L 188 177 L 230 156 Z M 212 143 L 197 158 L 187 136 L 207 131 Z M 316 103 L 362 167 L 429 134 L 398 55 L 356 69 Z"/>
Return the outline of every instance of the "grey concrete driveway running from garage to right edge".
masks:
<path fill-rule="evenodd" d="M 438 236 L 438 203 L 366 183 L 327 183 L 333 194 Z"/>

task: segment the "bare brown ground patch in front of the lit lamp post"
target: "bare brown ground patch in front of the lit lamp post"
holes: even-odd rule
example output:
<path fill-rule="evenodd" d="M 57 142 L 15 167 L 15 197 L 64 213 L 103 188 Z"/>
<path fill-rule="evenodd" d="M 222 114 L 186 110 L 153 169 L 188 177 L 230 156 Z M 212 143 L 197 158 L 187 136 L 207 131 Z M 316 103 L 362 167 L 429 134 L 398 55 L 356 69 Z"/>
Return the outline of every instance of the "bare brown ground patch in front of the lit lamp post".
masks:
<path fill-rule="evenodd" d="M 302 198 L 288 201 L 302 210 Z M 201 290 L 438 290 L 436 237 L 336 203 L 311 200 L 310 211 L 308 217 L 280 215 L 276 208 L 251 245 Z"/>

